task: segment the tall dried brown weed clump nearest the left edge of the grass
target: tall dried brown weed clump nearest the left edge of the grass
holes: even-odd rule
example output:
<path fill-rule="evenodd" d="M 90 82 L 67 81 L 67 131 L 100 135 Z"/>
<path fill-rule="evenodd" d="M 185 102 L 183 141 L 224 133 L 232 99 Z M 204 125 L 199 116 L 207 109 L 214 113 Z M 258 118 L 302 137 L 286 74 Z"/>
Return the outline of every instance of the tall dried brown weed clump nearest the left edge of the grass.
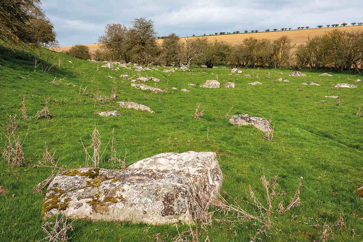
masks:
<path fill-rule="evenodd" d="M 5 148 L 3 150 L 3 157 L 8 161 L 12 167 L 20 167 L 24 163 L 24 152 L 22 146 L 28 136 L 28 131 L 26 132 L 23 142 L 20 144 L 19 136 L 15 136 L 15 132 L 19 127 L 19 120 L 16 120 L 16 115 L 9 115 L 9 120 L 7 122 L 6 134 L 5 134 Z"/>

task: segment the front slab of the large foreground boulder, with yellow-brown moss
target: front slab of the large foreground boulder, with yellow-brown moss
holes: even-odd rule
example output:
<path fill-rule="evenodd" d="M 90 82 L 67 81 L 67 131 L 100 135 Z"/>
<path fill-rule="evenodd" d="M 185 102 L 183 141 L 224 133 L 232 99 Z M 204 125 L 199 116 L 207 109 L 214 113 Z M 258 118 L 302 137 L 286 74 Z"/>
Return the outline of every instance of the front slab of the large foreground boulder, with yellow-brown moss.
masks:
<path fill-rule="evenodd" d="M 79 168 L 54 177 L 42 216 L 62 212 L 93 221 L 189 223 L 195 217 L 193 196 L 189 178 L 171 170 Z"/>

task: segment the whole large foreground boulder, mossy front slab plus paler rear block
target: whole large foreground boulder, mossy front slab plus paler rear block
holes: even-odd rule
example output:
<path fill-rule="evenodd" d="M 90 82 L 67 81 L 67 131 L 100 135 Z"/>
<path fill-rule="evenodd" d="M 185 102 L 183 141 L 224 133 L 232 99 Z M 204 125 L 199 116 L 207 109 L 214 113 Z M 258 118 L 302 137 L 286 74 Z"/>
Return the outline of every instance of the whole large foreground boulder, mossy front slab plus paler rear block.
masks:
<path fill-rule="evenodd" d="M 42 217 L 190 223 L 200 212 L 196 199 L 213 197 L 222 180 L 214 152 L 161 153 L 124 170 L 73 169 L 50 183 Z"/>

